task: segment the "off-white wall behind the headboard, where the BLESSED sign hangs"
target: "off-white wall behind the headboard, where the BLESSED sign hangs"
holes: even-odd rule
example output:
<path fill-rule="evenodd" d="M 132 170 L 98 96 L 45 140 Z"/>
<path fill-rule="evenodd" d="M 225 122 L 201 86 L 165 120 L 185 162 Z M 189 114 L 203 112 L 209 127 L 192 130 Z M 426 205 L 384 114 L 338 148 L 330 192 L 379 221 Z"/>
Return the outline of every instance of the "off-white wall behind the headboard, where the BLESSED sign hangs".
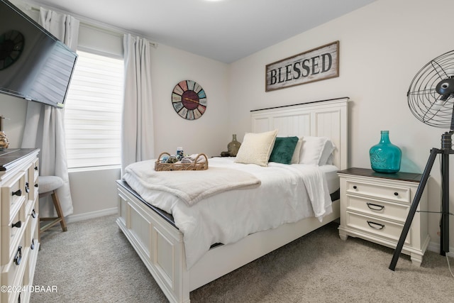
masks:
<path fill-rule="evenodd" d="M 450 0 L 378 0 L 234 62 L 228 90 L 229 128 L 241 140 L 240 133 L 250 130 L 251 109 L 350 97 L 350 166 L 370 167 L 369 148 L 378 143 L 381 130 L 389 130 L 392 143 L 402 149 L 402 171 L 422 172 L 431 148 L 440 148 L 441 134 L 447 130 L 417 120 L 409 111 L 406 92 L 423 65 L 454 49 L 448 30 L 453 10 Z M 265 92 L 265 65 L 336 40 L 340 41 L 340 77 Z M 437 162 L 428 184 L 430 211 L 440 209 L 439 171 Z M 454 172 L 452 164 L 450 172 Z M 450 209 L 454 209 L 453 191 Z M 439 217 L 429 214 L 431 246 L 439 243 Z M 450 246 L 454 246 L 453 233 Z"/>

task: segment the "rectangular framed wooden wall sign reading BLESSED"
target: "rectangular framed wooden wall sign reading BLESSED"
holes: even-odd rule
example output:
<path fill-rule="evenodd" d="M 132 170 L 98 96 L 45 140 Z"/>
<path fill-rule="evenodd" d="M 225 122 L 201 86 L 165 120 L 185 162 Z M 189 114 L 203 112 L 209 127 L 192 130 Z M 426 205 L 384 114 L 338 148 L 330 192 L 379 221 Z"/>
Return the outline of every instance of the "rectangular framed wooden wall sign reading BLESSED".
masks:
<path fill-rule="evenodd" d="M 265 91 L 339 77 L 339 41 L 266 66 Z"/>

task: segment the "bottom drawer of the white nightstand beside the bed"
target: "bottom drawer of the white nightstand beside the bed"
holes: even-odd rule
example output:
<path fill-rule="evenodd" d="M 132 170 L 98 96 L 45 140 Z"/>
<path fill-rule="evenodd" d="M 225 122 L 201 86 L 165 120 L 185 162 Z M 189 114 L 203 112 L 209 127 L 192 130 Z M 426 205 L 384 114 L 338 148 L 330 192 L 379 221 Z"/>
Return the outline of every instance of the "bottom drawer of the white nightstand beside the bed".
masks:
<path fill-rule="evenodd" d="M 378 236 L 397 243 L 402 233 L 404 224 L 397 224 L 391 221 L 377 219 L 372 216 L 365 216 L 362 214 L 355 214 L 350 211 L 346 213 L 346 221 L 348 228 L 354 228 L 356 230 L 367 233 L 370 236 Z M 411 230 L 406 236 L 405 245 L 411 245 Z"/>

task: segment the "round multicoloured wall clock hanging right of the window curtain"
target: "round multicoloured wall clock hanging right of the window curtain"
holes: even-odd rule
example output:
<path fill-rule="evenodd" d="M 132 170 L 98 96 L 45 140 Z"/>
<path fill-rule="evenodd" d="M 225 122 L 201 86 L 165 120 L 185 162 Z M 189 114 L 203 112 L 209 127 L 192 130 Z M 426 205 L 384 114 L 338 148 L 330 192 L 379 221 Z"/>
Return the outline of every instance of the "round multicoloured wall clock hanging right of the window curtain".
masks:
<path fill-rule="evenodd" d="M 199 119 L 206 110 L 205 91 L 197 82 L 183 80 L 175 85 L 172 91 L 172 105 L 182 118 Z"/>

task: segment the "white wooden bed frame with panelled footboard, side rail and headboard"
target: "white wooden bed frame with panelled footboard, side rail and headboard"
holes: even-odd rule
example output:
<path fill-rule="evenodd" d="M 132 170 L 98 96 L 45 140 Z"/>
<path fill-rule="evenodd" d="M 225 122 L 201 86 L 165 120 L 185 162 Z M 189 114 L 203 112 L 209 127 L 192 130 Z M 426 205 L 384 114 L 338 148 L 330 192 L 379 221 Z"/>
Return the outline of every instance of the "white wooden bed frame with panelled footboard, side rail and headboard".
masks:
<path fill-rule="evenodd" d="M 279 129 L 278 136 L 326 136 L 336 145 L 334 164 L 348 167 L 348 98 L 251 111 L 252 131 Z M 339 201 L 323 222 L 308 218 L 253 233 L 228 245 L 211 248 L 186 269 L 182 233 L 118 184 L 116 220 L 170 302 L 189 302 L 189 292 L 270 253 L 339 217 Z"/>

